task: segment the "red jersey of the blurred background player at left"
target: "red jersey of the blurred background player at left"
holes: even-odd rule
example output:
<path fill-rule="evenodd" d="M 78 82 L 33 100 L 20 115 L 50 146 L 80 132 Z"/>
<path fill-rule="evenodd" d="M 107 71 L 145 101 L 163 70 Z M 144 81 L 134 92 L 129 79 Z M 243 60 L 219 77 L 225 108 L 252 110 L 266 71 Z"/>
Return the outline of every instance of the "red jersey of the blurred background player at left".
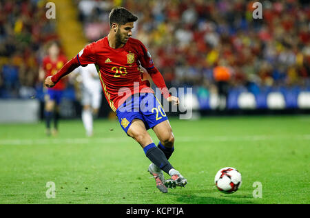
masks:
<path fill-rule="evenodd" d="M 46 56 L 42 63 L 43 63 L 43 70 L 45 71 L 45 78 L 49 76 L 55 75 L 62 67 L 63 65 L 67 62 L 68 60 L 65 58 L 63 55 L 59 55 L 57 60 L 53 62 L 49 56 Z M 66 84 L 66 79 L 61 79 L 58 83 L 53 88 L 53 90 L 64 90 L 65 89 L 65 84 Z"/>

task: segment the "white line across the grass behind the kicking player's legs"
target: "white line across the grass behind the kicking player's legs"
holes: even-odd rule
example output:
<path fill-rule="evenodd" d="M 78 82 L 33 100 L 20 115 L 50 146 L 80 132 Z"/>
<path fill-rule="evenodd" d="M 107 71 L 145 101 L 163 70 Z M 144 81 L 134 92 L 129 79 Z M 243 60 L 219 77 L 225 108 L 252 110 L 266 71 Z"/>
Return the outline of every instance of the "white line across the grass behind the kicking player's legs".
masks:
<path fill-rule="evenodd" d="M 270 141 L 270 140 L 310 140 L 310 135 L 252 135 L 252 136 L 210 136 L 210 137 L 177 137 L 177 142 L 216 142 L 216 141 Z M 65 139 L 0 139 L 0 146 L 45 145 L 45 144 L 89 144 L 89 143 L 130 143 L 130 137 L 110 138 L 65 138 Z"/>

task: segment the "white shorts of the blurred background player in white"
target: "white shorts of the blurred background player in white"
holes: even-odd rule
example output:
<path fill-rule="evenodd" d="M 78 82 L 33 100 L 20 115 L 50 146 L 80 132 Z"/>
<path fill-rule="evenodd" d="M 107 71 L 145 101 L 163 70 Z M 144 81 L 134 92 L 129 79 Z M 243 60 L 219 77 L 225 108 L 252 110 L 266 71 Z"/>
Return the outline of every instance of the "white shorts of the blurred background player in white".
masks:
<path fill-rule="evenodd" d="M 82 89 L 82 105 L 92 106 L 93 109 L 98 109 L 101 106 L 102 91 Z"/>

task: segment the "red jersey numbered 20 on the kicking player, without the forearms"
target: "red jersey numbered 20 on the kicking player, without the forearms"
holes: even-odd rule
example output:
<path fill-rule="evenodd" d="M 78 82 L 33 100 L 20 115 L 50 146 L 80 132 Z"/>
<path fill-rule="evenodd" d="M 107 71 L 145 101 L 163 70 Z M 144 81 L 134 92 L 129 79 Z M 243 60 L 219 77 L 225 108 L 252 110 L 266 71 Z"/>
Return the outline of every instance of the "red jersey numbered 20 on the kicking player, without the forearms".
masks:
<path fill-rule="evenodd" d="M 114 112 L 127 97 L 138 92 L 154 92 L 143 81 L 139 66 L 150 70 L 154 64 L 149 52 L 138 39 L 128 39 L 122 48 L 111 48 L 107 37 L 86 46 L 77 59 L 81 66 L 95 63 L 105 98 Z"/>

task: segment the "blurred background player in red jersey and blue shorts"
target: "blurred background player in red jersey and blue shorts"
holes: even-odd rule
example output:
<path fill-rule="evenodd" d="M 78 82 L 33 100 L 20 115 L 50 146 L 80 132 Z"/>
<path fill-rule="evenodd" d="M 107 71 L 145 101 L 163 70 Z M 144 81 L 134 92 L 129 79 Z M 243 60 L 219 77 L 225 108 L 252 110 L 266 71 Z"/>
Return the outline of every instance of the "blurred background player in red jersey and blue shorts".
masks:
<path fill-rule="evenodd" d="M 60 46 L 57 41 L 52 41 L 47 45 L 48 55 L 44 57 L 42 65 L 39 69 L 39 79 L 44 81 L 46 77 L 53 76 L 58 72 L 63 65 L 68 61 L 63 54 L 60 54 Z M 45 89 L 45 123 L 46 134 L 56 135 L 58 132 L 59 121 L 59 104 L 63 90 L 66 88 L 66 79 L 61 79 L 56 86 Z M 54 121 L 54 127 L 51 130 L 51 122 Z"/>

